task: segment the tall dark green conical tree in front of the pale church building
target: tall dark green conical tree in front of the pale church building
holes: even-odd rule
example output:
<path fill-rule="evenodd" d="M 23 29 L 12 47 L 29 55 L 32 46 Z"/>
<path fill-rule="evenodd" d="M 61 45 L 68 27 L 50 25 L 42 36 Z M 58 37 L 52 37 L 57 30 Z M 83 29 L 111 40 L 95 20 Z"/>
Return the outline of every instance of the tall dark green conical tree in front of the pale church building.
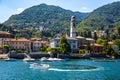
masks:
<path fill-rule="evenodd" d="M 67 42 L 67 39 L 66 39 L 66 36 L 65 36 L 65 35 L 63 35 L 63 36 L 60 38 L 59 47 L 60 47 L 62 53 L 67 53 L 67 52 L 70 52 L 70 51 L 71 51 L 70 44 Z"/>

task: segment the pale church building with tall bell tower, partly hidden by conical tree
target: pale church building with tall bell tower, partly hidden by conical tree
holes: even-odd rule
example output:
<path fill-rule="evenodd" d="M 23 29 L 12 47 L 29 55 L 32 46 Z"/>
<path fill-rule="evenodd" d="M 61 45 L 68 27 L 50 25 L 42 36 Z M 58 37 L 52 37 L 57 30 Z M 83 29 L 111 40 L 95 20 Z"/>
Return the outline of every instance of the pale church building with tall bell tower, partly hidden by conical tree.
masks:
<path fill-rule="evenodd" d="M 71 17 L 70 37 L 67 36 L 67 41 L 71 46 L 71 52 L 78 51 L 78 40 L 76 38 L 76 20 L 75 20 L 75 16 Z M 58 47 L 59 43 L 60 43 L 60 37 L 57 37 L 57 38 L 50 41 L 50 46 L 52 48 Z"/>

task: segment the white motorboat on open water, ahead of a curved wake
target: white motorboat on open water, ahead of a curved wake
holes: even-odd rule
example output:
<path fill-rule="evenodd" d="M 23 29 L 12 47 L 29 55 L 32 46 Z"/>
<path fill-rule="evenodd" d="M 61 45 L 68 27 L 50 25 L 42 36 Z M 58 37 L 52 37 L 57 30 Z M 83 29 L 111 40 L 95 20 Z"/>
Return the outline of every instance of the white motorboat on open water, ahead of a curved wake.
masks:
<path fill-rule="evenodd" d="M 33 69 L 49 69 L 50 68 L 50 65 L 48 64 L 38 64 L 38 63 L 33 63 L 33 64 L 30 64 L 30 68 L 33 68 Z"/>

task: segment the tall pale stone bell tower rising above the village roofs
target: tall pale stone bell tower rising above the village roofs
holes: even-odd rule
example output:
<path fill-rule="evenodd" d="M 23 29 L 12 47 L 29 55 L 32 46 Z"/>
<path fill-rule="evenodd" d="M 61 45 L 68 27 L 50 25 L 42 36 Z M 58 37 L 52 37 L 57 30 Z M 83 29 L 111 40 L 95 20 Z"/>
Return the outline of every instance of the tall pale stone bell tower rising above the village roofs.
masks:
<path fill-rule="evenodd" d="M 76 38 L 76 21 L 75 21 L 75 16 L 71 17 L 71 22 L 70 22 L 70 37 Z"/>

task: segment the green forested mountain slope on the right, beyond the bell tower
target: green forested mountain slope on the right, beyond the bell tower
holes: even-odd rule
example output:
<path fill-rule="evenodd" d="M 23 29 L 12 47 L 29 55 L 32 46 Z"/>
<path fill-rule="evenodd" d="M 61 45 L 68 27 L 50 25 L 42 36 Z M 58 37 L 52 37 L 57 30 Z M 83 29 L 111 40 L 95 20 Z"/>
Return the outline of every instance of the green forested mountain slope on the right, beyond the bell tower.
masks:
<path fill-rule="evenodd" d="M 79 27 L 97 29 L 105 28 L 111 25 L 114 26 L 119 22 L 120 2 L 114 2 L 94 10 L 79 24 Z"/>

